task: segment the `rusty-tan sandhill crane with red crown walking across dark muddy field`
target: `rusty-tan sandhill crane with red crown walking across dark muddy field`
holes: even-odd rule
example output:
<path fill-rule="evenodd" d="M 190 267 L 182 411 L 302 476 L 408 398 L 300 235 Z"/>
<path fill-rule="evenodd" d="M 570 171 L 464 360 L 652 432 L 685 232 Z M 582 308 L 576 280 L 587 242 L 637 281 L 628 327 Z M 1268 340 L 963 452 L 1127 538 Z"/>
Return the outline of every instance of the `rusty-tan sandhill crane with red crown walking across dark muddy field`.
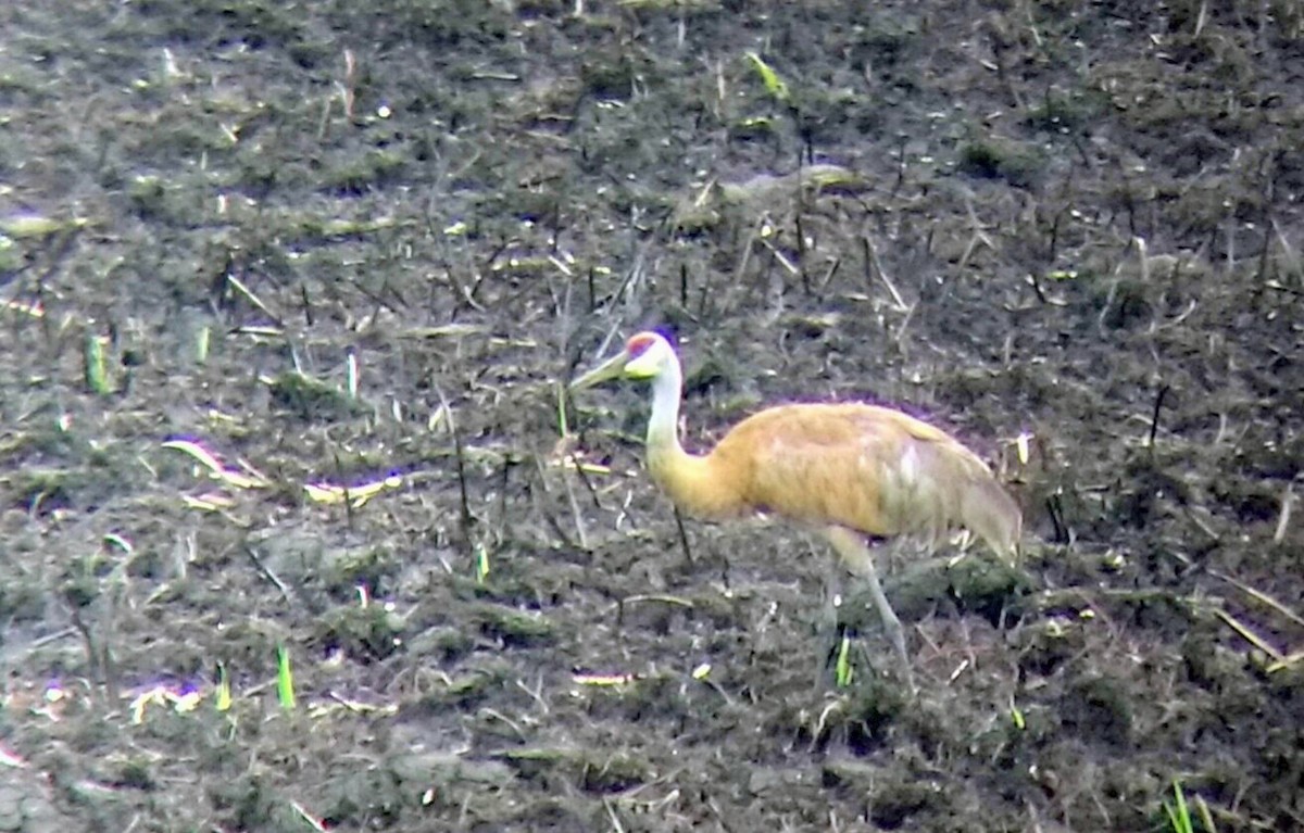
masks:
<path fill-rule="evenodd" d="M 960 441 L 878 405 L 768 408 L 730 429 L 709 454 L 689 454 L 679 442 L 682 374 L 669 342 L 640 332 L 571 387 L 617 377 L 651 381 L 648 469 L 687 514 L 725 520 L 764 512 L 822 527 L 848 568 L 867 579 L 913 687 L 901 624 L 865 537 L 910 536 L 936 546 L 964 527 L 1013 559 L 1018 504 Z"/>

